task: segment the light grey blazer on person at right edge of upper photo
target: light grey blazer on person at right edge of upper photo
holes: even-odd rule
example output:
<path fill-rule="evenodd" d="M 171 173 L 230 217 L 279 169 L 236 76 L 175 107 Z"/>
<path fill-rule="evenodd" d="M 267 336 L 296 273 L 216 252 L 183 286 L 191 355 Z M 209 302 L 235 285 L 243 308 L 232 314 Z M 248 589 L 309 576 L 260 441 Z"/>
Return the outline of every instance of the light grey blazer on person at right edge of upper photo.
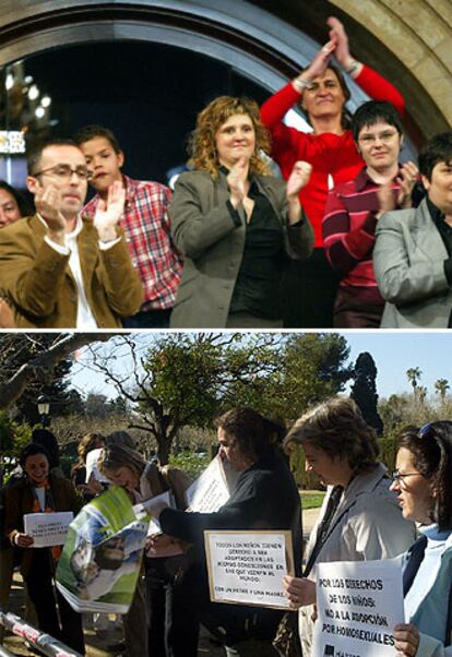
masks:
<path fill-rule="evenodd" d="M 381 327 L 445 329 L 452 310 L 444 274 L 449 254 L 427 201 L 383 215 L 376 236 L 373 268 L 386 301 Z"/>

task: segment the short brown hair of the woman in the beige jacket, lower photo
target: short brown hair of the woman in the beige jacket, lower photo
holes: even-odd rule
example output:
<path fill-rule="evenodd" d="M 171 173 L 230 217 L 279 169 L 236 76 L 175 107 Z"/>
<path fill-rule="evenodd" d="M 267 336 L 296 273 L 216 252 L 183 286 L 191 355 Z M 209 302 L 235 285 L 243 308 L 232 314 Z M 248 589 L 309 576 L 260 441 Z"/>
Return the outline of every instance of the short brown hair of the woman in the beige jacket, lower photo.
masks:
<path fill-rule="evenodd" d="M 284 446 L 309 443 L 332 458 L 344 458 L 354 473 L 372 469 L 380 452 L 377 432 L 353 399 L 336 397 L 302 415 L 288 432 Z"/>

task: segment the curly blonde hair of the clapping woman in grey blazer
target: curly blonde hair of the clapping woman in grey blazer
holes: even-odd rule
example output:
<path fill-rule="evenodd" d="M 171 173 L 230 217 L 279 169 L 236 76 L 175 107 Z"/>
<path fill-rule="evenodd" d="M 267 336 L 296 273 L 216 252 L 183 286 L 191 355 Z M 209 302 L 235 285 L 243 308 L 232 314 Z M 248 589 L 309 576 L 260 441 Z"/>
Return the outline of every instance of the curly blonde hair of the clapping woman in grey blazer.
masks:
<path fill-rule="evenodd" d="M 197 118 L 197 127 L 189 140 L 189 165 L 218 178 L 219 162 L 215 136 L 219 128 L 235 115 L 247 115 L 255 133 L 255 150 L 250 159 L 250 174 L 270 175 L 270 165 L 261 152 L 270 154 L 270 134 L 261 121 L 259 105 L 249 98 L 219 96 L 210 103 Z"/>

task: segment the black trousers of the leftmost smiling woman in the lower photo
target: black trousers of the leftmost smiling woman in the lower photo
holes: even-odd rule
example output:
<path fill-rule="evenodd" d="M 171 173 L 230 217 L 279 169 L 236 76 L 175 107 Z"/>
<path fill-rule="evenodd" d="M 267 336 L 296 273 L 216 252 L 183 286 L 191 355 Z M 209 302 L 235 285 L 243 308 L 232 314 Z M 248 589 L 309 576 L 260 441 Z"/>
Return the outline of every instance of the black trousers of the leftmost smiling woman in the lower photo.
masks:
<path fill-rule="evenodd" d="M 50 550 L 31 549 L 33 559 L 25 582 L 28 596 L 36 608 L 39 630 L 84 655 L 82 616 L 72 609 L 53 586 L 53 561 Z"/>

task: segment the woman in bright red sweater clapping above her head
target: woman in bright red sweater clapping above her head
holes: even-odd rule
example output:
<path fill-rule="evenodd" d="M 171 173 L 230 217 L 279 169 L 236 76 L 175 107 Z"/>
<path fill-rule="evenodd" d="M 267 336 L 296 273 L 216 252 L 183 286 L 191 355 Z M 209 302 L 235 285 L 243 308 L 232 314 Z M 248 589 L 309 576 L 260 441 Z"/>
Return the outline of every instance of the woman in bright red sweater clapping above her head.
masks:
<path fill-rule="evenodd" d="M 328 20 L 330 41 L 310 64 L 261 107 L 262 122 L 272 135 L 272 157 L 287 178 L 298 159 L 309 162 L 312 174 L 300 191 L 300 201 L 314 230 L 314 252 L 309 260 L 292 265 L 288 286 L 296 285 L 285 326 L 317 329 L 332 326 L 336 278 L 323 251 L 322 218 L 329 189 L 354 178 L 364 166 L 356 150 L 350 115 L 345 104 L 350 92 L 338 69 L 331 65 L 334 53 L 342 69 L 371 98 L 389 100 L 403 116 L 404 99 L 397 89 L 376 71 L 356 61 L 348 50 L 348 38 L 342 23 Z M 300 105 L 312 126 L 306 133 L 283 123 L 293 105 Z"/>

